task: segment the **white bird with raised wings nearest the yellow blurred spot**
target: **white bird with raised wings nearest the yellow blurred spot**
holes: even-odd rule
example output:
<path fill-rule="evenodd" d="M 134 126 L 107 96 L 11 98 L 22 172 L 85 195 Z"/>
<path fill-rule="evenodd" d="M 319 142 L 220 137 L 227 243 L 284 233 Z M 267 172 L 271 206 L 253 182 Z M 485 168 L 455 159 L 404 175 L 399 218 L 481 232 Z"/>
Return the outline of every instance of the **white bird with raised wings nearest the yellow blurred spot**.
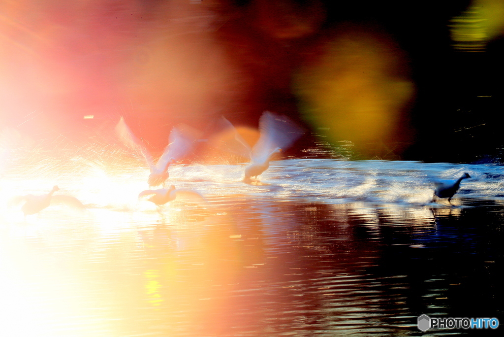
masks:
<path fill-rule="evenodd" d="M 227 122 L 229 123 L 229 122 Z M 229 123 L 230 127 L 233 127 Z M 233 127 L 234 128 L 234 127 Z M 257 179 L 268 167 L 272 157 L 289 148 L 304 131 L 284 115 L 264 111 L 259 119 L 260 137 L 253 149 L 235 130 L 235 139 L 247 150 L 250 163 L 245 167 L 243 182 L 251 183 L 251 178 Z"/>

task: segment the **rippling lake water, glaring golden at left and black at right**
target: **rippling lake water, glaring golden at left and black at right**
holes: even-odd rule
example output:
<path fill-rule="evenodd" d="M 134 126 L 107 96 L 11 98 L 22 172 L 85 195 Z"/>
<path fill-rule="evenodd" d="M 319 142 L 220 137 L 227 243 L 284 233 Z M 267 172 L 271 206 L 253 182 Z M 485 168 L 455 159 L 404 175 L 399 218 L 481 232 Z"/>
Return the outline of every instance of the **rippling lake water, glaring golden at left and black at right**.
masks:
<path fill-rule="evenodd" d="M 500 166 L 285 160 L 262 186 L 239 183 L 236 165 L 178 170 L 175 183 L 201 191 L 207 207 L 174 201 L 157 210 L 136 201 L 145 174 L 134 171 L 128 185 L 119 174 L 74 179 L 66 193 L 90 204 L 82 212 L 51 206 L 24 221 L 4 207 L 2 335 L 502 329 L 416 326 L 421 314 L 502 318 Z M 459 207 L 428 202 L 431 176 L 460 172 L 474 178 L 454 200 Z M 14 177 L 2 190 L 28 193 L 34 183 Z M 121 196 L 112 200 L 114 191 Z"/>

